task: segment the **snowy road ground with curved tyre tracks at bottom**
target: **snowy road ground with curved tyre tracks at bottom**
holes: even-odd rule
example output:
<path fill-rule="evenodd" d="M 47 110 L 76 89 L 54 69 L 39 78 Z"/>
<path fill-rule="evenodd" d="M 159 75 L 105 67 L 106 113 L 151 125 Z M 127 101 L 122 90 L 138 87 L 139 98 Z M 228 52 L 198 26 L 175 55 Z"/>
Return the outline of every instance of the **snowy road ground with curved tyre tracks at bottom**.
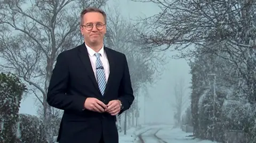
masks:
<path fill-rule="evenodd" d="M 193 139 L 191 133 L 173 129 L 171 125 L 147 125 L 141 129 L 129 129 L 127 134 L 119 133 L 120 143 L 218 143 L 209 140 Z"/>

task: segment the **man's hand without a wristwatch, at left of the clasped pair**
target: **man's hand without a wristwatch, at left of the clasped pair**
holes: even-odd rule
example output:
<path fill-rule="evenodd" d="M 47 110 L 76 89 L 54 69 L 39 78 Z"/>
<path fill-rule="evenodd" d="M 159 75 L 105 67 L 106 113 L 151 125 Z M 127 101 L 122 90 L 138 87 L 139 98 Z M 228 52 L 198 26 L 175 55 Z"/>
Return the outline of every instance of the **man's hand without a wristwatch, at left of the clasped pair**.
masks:
<path fill-rule="evenodd" d="M 92 98 L 92 97 L 86 98 L 84 102 L 84 107 L 87 110 L 95 111 L 99 113 L 103 113 L 107 109 L 107 105 L 105 105 L 103 102 L 101 102 L 97 98 Z"/>

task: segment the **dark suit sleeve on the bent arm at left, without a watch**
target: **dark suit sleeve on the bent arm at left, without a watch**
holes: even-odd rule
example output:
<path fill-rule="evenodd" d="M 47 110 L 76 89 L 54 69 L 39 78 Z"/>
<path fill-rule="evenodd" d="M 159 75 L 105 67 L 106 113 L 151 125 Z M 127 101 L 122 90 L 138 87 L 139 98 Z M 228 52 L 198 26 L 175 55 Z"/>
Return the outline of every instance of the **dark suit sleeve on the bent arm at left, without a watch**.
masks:
<path fill-rule="evenodd" d="M 59 108 L 60 110 L 82 111 L 86 97 L 66 93 L 69 82 L 69 69 L 65 54 L 62 52 L 57 57 L 57 62 L 52 71 L 46 101 L 50 106 Z"/>

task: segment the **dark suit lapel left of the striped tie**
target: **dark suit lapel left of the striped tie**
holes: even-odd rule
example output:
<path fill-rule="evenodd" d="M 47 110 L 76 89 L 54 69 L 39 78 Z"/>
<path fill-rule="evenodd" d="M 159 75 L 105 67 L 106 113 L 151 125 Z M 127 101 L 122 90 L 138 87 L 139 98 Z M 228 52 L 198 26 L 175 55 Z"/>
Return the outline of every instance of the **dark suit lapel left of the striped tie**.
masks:
<path fill-rule="evenodd" d="M 85 69 L 87 71 L 87 73 L 89 74 L 90 79 L 92 80 L 93 85 L 95 86 L 95 88 L 98 90 L 98 92 L 101 94 L 98 83 L 95 79 L 95 75 L 92 69 L 92 64 L 89 58 L 89 54 L 86 50 L 85 47 L 85 43 L 83 43 L 80 47 L 79 47 L 79 52 L 78 52 L 78 56 L 81 59 L 82 63 L 85 66 Z"/>

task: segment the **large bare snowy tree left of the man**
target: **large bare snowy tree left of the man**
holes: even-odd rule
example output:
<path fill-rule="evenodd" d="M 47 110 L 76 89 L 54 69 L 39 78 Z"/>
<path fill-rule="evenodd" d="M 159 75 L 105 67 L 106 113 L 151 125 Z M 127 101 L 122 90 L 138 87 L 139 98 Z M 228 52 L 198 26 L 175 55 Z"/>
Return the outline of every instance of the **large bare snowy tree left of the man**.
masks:
<path fill-rule="evenodd" d="M 58 54 L 81 44 L 79 13 L 107 0 L 0 0 L 0 68 L 26 81 L 43 108 L 48 142 L 52 142 L 52 107 L 46 93 Z M 3 62 L 2 62 L 3 61 Z"/>

